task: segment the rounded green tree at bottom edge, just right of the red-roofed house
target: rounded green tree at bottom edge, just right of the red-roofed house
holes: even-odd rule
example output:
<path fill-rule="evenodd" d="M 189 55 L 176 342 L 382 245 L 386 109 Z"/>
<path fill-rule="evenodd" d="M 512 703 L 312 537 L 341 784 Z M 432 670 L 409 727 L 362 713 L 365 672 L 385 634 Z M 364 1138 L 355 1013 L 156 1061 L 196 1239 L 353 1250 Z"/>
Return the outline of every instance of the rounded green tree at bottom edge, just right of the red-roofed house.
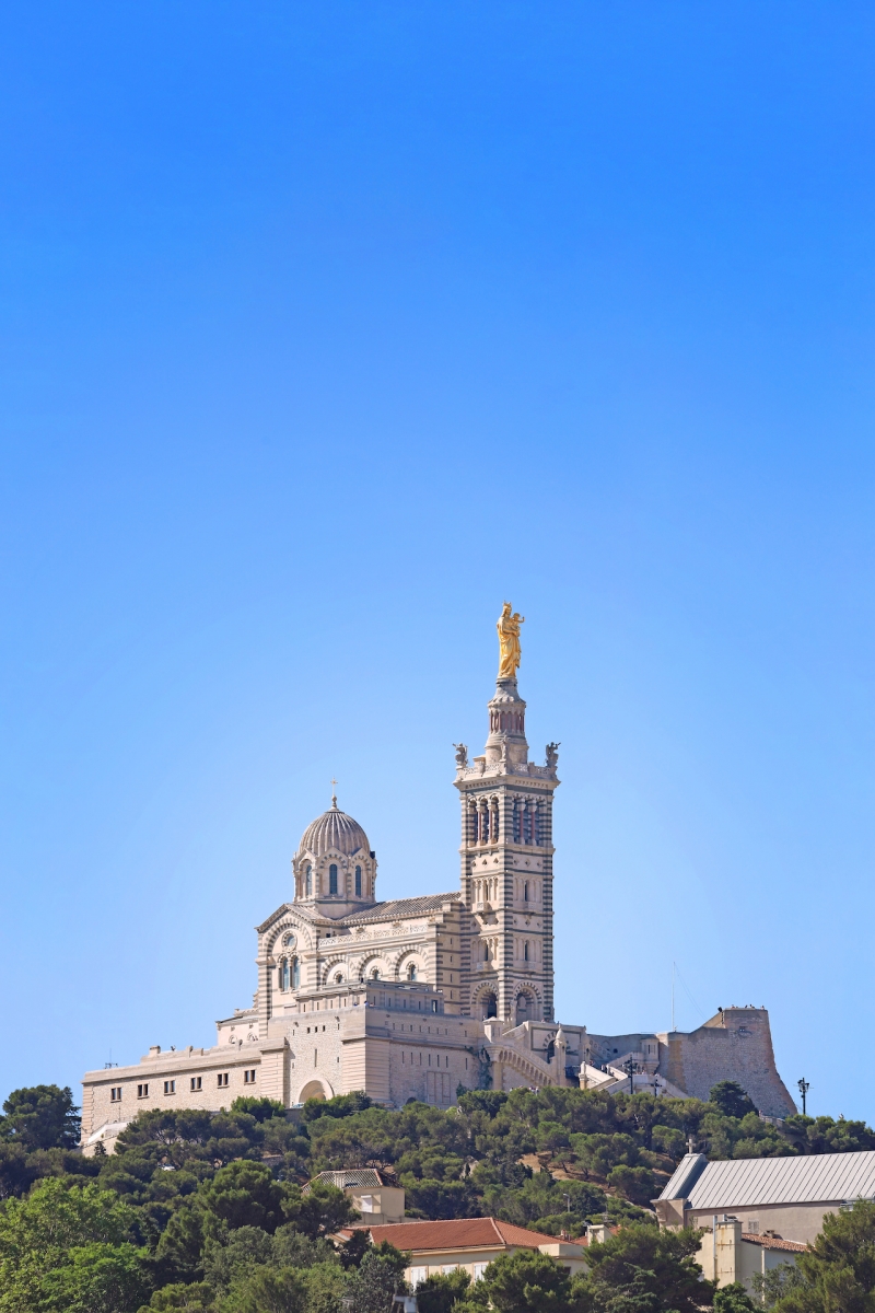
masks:
<path fill-rule="evenodd" d="M 589 1271 L 575 1278 L 584 1308 L 624 1313 L 632 1309 L 698 1313 L 711 1302 L 714 1287 L 702 1280 L 695 1262 L 701 1232 L 661 1230 L 653 1222 L 631 1222 L 603 1245 L 586 1251 Z"/>

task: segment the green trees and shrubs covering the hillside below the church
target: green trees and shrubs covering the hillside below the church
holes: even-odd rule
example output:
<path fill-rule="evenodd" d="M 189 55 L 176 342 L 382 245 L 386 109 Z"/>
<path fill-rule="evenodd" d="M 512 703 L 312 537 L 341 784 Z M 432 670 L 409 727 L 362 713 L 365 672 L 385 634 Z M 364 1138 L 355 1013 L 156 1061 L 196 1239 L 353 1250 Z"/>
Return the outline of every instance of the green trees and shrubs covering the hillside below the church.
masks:
<path fill-rule="evenodd" d="M 649 1211 L 690 1141 L 715 1158 L 875 1148 L 863 1123 L 766 1123 L 728 1082 L 708 1102 L 478 1090 L 450 1111 L 388 1111 L 354 1094 L 314 1100 L 295 1120 L 269 1099 L 237 1099 L 216 1115 L 140 1113 L 114 1153 L 88 1158 L 75 1149 L 70 1090 L 17 1090 L 3 1112 L 0 1313 L 340 1313 L 350 1299 L 357 1313 L 388 1313 L 407 1255 L 361 1233 L 332 1239 L 353 1216 L 348 1199 L 320 1183 L 302 1190 L 319 1171 L 356 1166 L 394 1174 L 412 1217 L 492 1215 L 571 1236 L 588 1221 L 623 1222 L 592 1246 L 585 1278 L 518 1253 L 475 1285 L 462 1272 L 432 1278 L 420 1287 L 422 1313 L 489 1302 L 497 1313 L 691 1313 L 714 1293 L 693 1259 L 695 1237 L 660 1233 Z M 766 1306 L 875 1308 L 874 1208 L 825 1229 L 804 1279 L 769 1274 Z M 749 1313 L 749 1302 L 731 1288 L 716 1296 L 718 1313 Z"/>

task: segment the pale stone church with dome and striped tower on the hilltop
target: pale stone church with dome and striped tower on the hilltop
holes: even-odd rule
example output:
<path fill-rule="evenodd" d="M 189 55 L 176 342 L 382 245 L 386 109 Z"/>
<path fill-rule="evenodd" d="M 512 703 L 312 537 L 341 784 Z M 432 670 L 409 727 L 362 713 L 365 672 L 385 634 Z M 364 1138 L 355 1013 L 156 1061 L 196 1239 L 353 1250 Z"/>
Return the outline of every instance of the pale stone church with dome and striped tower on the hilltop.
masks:
<path fill-rule="evenodd" d="M 522 617 L 505 604 L 483 755 L 455 751 L 460 882 L 380 902 L 376 853 L 332 798 L 293 859 L 293 897 L 257 927 L 253 1006 L 209 1049 L 87 1073 L 83 1145 L 112 1145 L 144 1108 L 286 1106 L 365 1090 L 387 1107 L 450 1107 L 460 1088 L 548 1085 L 707 1098 L 736 1079 L 761 1112 L 795 1106 L 763 1008 L 723 1008 L 691 1033 L 589 1033 L 554 1016 L 552 805 L 558 744 L 529 760 L 517 687 Z"/>

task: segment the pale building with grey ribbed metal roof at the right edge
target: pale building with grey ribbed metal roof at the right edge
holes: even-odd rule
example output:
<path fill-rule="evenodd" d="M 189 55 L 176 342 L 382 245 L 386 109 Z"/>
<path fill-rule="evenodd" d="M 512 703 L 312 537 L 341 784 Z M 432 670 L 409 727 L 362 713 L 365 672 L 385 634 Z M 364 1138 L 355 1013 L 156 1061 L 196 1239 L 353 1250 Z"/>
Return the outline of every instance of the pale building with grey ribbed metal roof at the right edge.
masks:
<path fill-rule="evenodd" d="M 872 1149 L 725 1162 L 689 1153 L 655 1208 L 662 1226 L 712 1229 L 725 1213 L 741 1228 L 744 1239 L 760 1236 L 808 1245 L 820 1233 L 825 1213 L 874 1197 Z"/>

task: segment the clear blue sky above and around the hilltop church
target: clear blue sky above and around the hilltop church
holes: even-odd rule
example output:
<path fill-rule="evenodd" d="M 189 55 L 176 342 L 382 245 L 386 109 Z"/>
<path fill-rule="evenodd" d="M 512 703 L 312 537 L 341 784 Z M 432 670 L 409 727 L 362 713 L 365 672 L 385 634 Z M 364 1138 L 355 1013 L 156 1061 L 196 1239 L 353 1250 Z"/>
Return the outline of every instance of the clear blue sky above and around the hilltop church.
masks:
<path fill-rule="evenodd" d="M 331 798 L 458 886 L 508 597 L 556 993 L 875 1120 L 875 11 L 8 3 L 0 1096 L 210 1044 Z"/>

